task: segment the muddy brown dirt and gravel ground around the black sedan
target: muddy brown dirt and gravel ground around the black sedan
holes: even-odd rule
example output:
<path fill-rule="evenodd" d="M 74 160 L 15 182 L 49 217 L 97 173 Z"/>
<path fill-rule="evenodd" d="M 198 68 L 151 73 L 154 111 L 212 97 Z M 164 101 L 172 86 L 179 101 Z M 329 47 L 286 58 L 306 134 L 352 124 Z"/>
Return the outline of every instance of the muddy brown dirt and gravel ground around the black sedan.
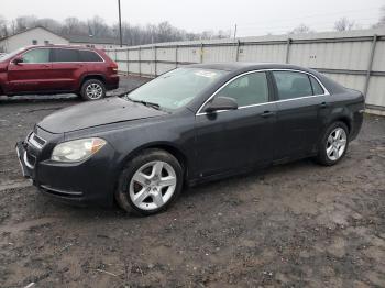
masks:
<path fill-rule="evenodd" d="M 385 118 L 365 117 L 334 167 L 266 168 L 138 218 L 57 203 L 22 178 L 14 143 L 79 102 L 36 99 L 0 98 L 0 287 L 385 287 Z"/>

